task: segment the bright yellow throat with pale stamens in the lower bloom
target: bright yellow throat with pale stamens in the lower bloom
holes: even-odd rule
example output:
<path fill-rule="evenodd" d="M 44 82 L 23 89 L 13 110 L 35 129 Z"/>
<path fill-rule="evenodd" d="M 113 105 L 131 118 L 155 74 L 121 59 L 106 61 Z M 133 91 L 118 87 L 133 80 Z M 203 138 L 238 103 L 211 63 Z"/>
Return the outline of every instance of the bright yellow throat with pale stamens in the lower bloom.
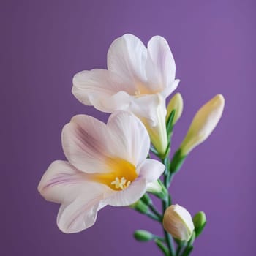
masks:
<path fill-rule="evenodd" d="M 121 158 L 109 158 L 107 160 L 109 173 L 93 174 L 94 181 L 107 185 L 113 190 L 124 190 L 138 177 L 136 167 L 127 160 Z"/>

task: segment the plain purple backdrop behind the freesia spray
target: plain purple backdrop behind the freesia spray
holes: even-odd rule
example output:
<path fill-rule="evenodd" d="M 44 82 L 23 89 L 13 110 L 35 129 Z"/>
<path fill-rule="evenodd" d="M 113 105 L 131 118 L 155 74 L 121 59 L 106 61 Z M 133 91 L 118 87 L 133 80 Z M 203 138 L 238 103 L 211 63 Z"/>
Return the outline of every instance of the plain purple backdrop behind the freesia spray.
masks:
<path fill-rule="evenodd" d="M 37 192 L 50 162 L 64 159 L 61 127 L 78 113 L 108 118 L 72 96 L 72 76 L 105 68 L 110 43 L 127 32 L 145 43 L 159 34 L 173 51 L 185 103 L 173 148 L 200 105 L 226 99 L 217 129 L 170 188 L 176 203 L 208 217 L 192 255 L 255 255 L 255 8 L 253 0 L 1 1 L 0 255 L 161 255 L 133 240 L 137 228 L 161 231 L 140 214 L 106 207 L 94 227 L 65 235 L 59 206 Z"/>

